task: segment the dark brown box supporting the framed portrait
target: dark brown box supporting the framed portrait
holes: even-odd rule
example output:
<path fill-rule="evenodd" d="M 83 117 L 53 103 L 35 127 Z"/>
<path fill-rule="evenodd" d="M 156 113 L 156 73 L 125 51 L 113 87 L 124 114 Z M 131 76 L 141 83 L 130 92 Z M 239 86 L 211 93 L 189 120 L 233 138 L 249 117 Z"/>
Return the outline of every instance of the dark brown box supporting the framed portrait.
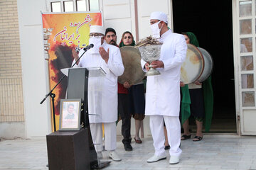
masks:
<path fill-rule="evenodd" d="M 47 135 L 48 166 L 53 170 L 85 170 L 97 167 L 90 130 L 56 131 Z"/>

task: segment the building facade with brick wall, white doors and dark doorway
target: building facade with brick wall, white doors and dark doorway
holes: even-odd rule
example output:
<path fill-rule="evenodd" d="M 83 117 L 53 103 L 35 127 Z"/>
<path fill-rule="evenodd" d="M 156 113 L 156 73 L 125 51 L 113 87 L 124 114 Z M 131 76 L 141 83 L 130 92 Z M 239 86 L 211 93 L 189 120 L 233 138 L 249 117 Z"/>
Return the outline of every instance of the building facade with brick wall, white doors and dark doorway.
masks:
<path fill-rule="evenodd" d="M 52 132 L 50 98 L 40 104 L 50 90 L 48 61 L 43 56 L 41 13 L 75 11 L 102 11 L 105 28 L 117 31 L 118 42 L 126 30 L 136 40 L 149 36 L 150 13 L 167 13 L 174 32 L 193 31 L 201 46 L 213 55 L 215 120 L 227 124 L 223 115 L 230 114 L 234 132 L 256 135 L 256 3 L 230 0 L 226 4 L 193 4 L 200 10 L 185 0 L 1 0 L 0 137 L 43 137 Z M 213 43 L 217 37 L 218 41 Z M 221 56 L 223 62 L 221 52 L 225 54 Z M 229 67 L 225 67 L 227 64 Z M 222 77 L 225 72 L 229 74 Z M 223 83 L 226 79 L 230 84 Z M 144 121 L 144 135 L 150 135 L 148 118 Z"/>

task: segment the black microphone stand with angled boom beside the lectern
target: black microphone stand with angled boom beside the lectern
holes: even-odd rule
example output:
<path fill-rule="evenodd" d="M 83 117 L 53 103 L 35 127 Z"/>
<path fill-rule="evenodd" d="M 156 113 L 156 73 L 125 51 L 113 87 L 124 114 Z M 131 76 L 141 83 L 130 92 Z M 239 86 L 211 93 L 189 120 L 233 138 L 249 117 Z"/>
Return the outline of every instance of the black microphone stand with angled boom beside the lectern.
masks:
<path fill-rule="evenodd" d="M 87 52 L 87 50 L 89 50 L 90 48 L 86 48 L 85 47 L 85 52 Z M 82 53 L 82 55 L 85 54 L 85 52 Z M 75 64 L 78 63 L 78 61 L 80 60 L 80 58 L 82 57 L 82 55 L 78 58 L 78 60 L 72 65 L 71 68 L 74 67 Z M 50 98 L 52 99 L 52 109 L 53 109 L 53 126 L 54 126 L 54 132 L 56 131 L 56 124 L 55 124 L 55 109 L 54 109 L 54 98 L 55 98 L 55 94 L 53 94 L 53 90 L 56 88 L 56 86 L 58 86 L 58 84 L 60 84 L 60 82 L 64 79 L 65 75 L 63 77 L 61 77 L 60 81 L 58 81 L 58 83 L 53 87 L 53 89 L 50 90 L 50 92 L 48 94 L 46 94 L 46 97 L 43 98 L 43 100 L 40 102 L 40 104 L 42 104 L 46 98 L 48 98 L 48 96 L 50 96 Z"/>

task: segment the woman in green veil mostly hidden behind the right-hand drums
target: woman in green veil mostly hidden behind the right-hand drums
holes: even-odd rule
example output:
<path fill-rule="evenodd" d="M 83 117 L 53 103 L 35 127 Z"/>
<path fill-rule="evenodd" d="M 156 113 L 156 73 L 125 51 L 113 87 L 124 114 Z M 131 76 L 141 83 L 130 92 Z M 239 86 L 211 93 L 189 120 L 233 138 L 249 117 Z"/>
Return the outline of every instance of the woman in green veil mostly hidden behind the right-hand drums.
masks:
<path fill-rule="evenodd" d="M 184 35 L 187 44 L 199 47 L 196 35 L 191 32 L 182 34 Z M 208 132 L 213 115 L 213 89 L 211 86 L 211 77 L 208 77 L 203 83 L 196 81 L 192 84 L 184 85 L 183 82 L 181 82 L 181 93 L 181 124 L 184 129 L 184 134 L 181 136 L 181 140 L 191 138 L 188 118 L 190 115 L 193 115 L 196 120 L 196 136 L 193 141 L 200 141 L 203 139 L 203 121 L 205 122 L 206 132 Z"/>

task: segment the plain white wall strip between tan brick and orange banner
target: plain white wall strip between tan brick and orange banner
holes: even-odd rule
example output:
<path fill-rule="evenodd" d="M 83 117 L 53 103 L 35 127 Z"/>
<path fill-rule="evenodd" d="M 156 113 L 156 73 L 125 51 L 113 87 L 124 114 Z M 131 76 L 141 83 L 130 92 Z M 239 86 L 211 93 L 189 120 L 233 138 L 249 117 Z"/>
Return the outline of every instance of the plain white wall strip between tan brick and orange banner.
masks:
<path fill-rule="evenodd" d="M 43 137 L 51 132 L 49 98 L 40 104 L 48 92 L 41 19 L 41 11 L 46 12 L 46 1 L 17 2 L 26 137 Z"/>

